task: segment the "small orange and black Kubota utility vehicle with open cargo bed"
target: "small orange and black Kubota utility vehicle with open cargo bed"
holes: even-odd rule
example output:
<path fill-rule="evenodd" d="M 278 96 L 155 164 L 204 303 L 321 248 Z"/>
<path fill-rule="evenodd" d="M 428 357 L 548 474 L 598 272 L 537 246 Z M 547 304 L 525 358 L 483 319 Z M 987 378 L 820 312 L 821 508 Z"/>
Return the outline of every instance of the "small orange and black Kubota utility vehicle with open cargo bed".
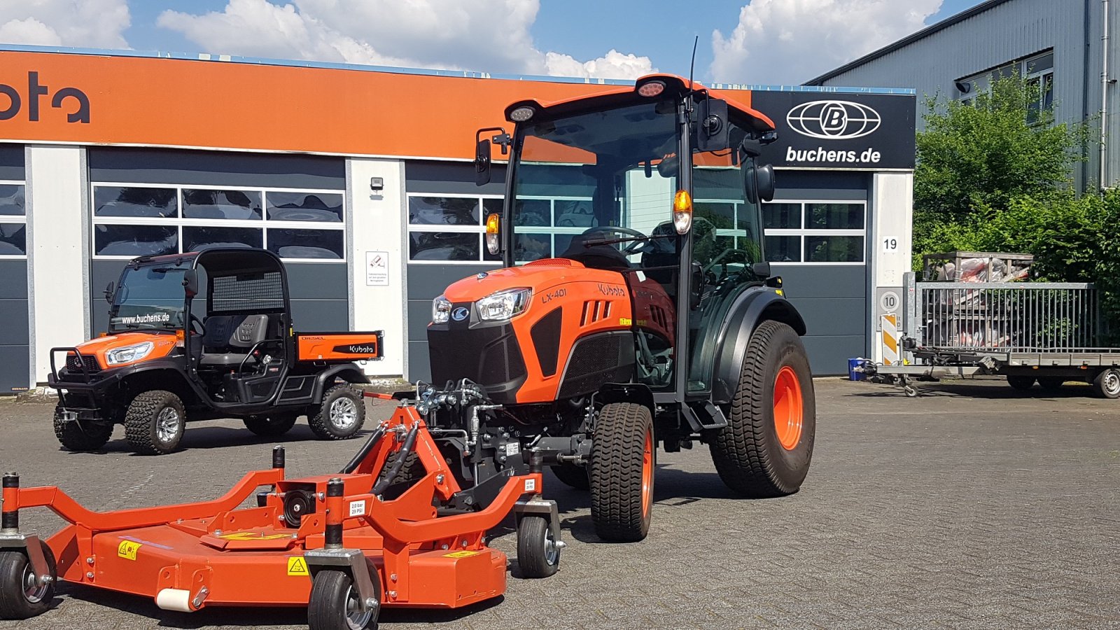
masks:
<path fill-rule="evenodd" d="M 199 287 L 204 293 L 199 293 Z M 213 248 L 140 257 L 105 289 L 109 332 L 50 351 L 55 435 L 93 451 L 122 424 L 139 453 L 175 451 L 186 420 L 242 418 L 262 436 L 306 415 L 324 439 L 354 437 L 381 333 L 296 333 L 288 278 L 272 252 Z M 56 367 L 56 356 L 65 364 Z"/>

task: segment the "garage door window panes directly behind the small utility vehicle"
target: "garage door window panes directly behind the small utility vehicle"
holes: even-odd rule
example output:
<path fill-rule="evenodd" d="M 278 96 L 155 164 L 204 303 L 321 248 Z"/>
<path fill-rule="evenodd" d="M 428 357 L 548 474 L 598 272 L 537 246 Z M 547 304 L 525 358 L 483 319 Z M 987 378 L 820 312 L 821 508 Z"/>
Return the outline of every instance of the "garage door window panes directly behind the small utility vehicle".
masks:
<path fill-rule="evenodd" d="M 288 261 L 346 257 L 338 191 L 95 183 L 92 198 L 99 259 L 237 245 L 264 248 Z"/>

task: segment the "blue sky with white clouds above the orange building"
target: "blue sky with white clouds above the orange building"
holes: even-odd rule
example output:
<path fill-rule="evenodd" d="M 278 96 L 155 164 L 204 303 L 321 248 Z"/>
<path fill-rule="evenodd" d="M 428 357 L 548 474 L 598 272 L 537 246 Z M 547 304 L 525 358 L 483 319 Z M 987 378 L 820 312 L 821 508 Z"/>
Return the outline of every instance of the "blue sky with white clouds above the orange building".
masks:
<path fill-rule="evenodd" d="M 980 0 L 0 0 L 0 43 L 800 83 Z M 7 21 L 4 21 L 7 20 Z"/>

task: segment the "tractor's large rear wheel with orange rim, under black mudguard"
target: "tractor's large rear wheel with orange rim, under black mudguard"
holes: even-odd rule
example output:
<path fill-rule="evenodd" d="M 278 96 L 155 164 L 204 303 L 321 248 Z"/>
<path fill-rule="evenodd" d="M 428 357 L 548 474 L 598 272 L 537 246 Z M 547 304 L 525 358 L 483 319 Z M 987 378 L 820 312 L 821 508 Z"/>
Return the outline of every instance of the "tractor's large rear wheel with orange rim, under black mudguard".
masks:
<path fill-rule="evenodd" d="M 809 473 L 815 432 L 805 348 L 793 328 L 767 319 L 750 335 L 727 426 L 710 442 L 716 471 L 746 497 L 793 494 Z"/>

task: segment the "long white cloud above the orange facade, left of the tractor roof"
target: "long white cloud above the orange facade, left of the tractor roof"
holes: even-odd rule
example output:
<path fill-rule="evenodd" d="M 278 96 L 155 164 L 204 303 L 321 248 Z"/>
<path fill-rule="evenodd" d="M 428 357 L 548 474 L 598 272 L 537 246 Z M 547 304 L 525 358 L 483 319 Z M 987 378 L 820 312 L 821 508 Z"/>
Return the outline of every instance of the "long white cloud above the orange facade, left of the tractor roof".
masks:
<path fill-rule="evenodd" d="M 542 53 L 539 0 L 228 0 L 222 11 L 164 11 L 157 24 L 213 53 L 392 66 L 633 78 L 648 57 L 580 62 Z"/>

